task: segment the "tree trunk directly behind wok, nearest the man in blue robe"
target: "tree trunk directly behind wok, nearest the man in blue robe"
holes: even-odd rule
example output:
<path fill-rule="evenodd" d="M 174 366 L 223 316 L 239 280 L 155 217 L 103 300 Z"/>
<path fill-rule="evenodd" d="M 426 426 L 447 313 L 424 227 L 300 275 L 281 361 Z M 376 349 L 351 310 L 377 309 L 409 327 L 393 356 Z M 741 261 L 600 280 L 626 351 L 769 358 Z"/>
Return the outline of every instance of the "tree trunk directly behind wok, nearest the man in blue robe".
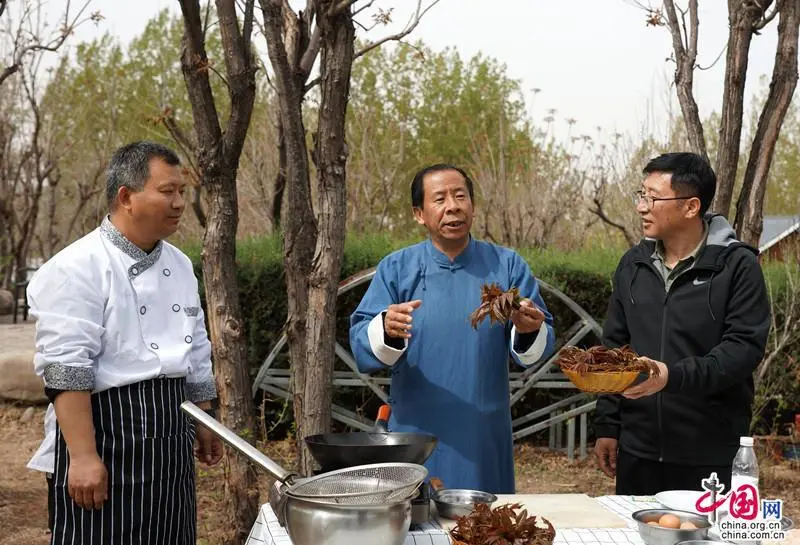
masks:
<path fill-rule="evenodd" d="M 320 2 L 320 108 L 314 150 L 317 166 L 317 241 L 309 275 L 306 319 L 306 403 L 300 415 L 306 435 L 325 433 L 331 423 L 331 378 L 335 360 L 336 295 L 344 254 L 347 186 L 345 114 L 350 96 L 355 28 L 350 8 L 331 13 L 334 2 Z M 295 418 L 298 414 L 295 413 Z M 310 464 L 306 460 L 304 465 Z"/>

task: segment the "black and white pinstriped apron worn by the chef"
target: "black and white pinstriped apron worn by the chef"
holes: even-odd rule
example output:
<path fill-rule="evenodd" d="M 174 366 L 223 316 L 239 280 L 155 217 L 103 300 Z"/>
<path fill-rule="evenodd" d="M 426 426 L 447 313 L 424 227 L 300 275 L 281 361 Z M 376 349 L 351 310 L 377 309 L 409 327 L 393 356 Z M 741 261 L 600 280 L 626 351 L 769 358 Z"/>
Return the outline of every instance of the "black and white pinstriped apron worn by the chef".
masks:
<path fill-rule="evenodd" d="M 97 452 L 108 470 L 102 509 L 69 495 L 69 453 L 56 429 L 52 545 L 195 545 L 194 424 L 180 411 L 185 379 L 92 395 Z"/>

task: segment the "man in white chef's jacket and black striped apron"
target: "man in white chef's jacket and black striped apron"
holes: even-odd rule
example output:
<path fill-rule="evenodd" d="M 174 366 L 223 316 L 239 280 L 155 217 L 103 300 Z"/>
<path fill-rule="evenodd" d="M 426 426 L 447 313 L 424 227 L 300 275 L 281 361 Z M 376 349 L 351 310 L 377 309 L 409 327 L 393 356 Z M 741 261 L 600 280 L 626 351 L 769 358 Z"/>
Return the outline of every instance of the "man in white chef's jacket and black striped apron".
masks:
<path fill-rule="evenodd" d="M 53 544 L 194 545 L 193 447 L 215 464 L 222 445 L 179 410 L 213 414 L 216 398 L 192 263 L 164 241 L 186 182 L 152 142 L 117 150 L 106 174 L 110 214 L 28 287 L 52 402 L 29 467 L 52 474 Z"/>

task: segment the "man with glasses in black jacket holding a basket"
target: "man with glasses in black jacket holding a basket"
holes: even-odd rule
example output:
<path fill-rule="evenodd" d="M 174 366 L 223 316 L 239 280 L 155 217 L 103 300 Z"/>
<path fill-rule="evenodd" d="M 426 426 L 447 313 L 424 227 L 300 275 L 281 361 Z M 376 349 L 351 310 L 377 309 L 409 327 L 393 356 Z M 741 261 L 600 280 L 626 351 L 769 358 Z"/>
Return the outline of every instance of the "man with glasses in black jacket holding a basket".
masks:
<path fill-rule="evenodd" d="M 716 175 L 700 156 L 661 155 L 644 173 L 645 238 L 614 273 L 603 343 L 660 373 L 598 399 L 595 453 L 617 494 L 698 490 L 712 471 L 727 490 L 770 326 L 758 251 L 705 214 Z"/>

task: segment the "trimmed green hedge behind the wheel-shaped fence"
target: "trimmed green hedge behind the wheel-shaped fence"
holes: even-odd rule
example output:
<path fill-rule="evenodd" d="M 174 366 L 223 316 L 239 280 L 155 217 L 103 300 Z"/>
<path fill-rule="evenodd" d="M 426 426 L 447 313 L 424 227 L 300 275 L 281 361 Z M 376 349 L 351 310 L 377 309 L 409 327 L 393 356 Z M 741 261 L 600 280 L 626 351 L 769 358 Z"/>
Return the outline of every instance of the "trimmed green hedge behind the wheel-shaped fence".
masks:
<path fill-rule="evenodd" d="M 341 278 L 373 267 L 391 251 L 413 242 L 416 241 L 411 239 L 399 241 L 381 236 L 348 238 Z M 195 263 L 198 278 L 202 278 L 200 248 L 190 246 L 184 250 Z M 567 294 L 602 323 L 611 295 L 611 278 L 622 254 L 621 250 L 599 249 L 571 253 L 520 250 L 520 254 L 531 265 L 535 276 Z M 248 339 L 248 360 L 251 377 L 254 378 L 280 337 L 286 319 L 286 284 L 280 240 L 277 237 L 265 237 L 241 241 L 237 247 L 237 270 Z M 783 293 L 785 282 L 782 278 L 785 276 L 785 268 L 768 266 L 766 273 L 775 287 L 775 293 Z M 366 287 L 364 285 L 354 289 L 339 299 L 337 340 L 345 348 L 349 348 L 349 316 L 361 300 Z M 203 293 L 202 287 L 201 293 Z M 576 316 L 556 298 L 547 295 L 544 297 L 548 309 L 553 314 L 556 331 L 563 334 L 575 323 Z M 797 347 L 791 352 L 796 354 Z M 287 358 L 287 351 L 284 350 L 275 365 L 288 367 Z M 337 360 L 337 369 L 343 370 L 346 367 Z M 791 396 L 800 399 L 800 391 L 794 390 Z M 567 393 L 574 392 L 534 390 L 515 405 L 514 416 L 542 407 Z M 347 407 L 363 409 L 365 414 L 374 414 L 377 408 L 377 400 L 366 389 L 339 389 L 334 393 L 334 397 L 336 402 Z M 280 435 L 290 431 L 291 407 L 275 400 L 263 401 L 267 425 L 273 426 L 274 433 Z M 768 411 L 766 416 L 771 418 L 773 415 Z M 280 422 L 277 422 L 278 420 Z"/>

